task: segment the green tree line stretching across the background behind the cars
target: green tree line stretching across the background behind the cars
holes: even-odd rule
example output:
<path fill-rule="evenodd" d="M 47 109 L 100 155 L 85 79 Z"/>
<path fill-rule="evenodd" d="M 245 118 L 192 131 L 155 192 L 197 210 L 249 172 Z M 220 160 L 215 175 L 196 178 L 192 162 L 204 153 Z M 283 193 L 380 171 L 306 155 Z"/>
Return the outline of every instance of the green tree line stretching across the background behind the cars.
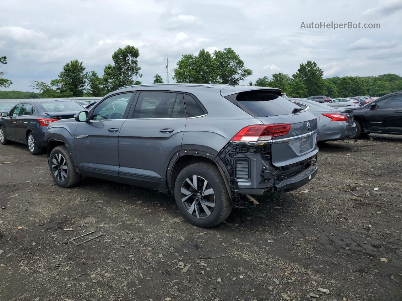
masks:
<path fill-rule="evenodd" d="M 0 98 L 57 98 L 57 97 L 101 97 L 120 87 L 141 84 L 141 67 L 138 65 L 139 49 L 127 45 L 112 55 L 113 64 L 103 69 L 100 77 L 96 71 L 86 71 L 82 61 L 72 60 L 64 65 L 57 79 L 49 83 L 33 81 L 31 87 L 38 92 L 0 91 Z M 0 64 L 6 64 L 6 57 L 0 57 Z M 173 69 L 172 79 L 176 83 L 232 83 L 238 85 L 252 70 L 231 48 L 213 53 L 201 49 L 198 54 L 185 54 Z M 0 87 L 9 87 L 12 82 L 0 72 Z M 312 95 L 328 95 L 331 98 L 347 96 L 382 96 L 402 90 L 402 77 L 396 74 L 379 76 L 344 76 L 323 79 L 323 71 L 314 61 L 307 61 L 289 76 L 274 73 L 258 78 L 249 85 L 275 87 L 289 97 L 305 98 Z M 154 76 L 154 83 L 163 83 L 160 75 Z"/>

